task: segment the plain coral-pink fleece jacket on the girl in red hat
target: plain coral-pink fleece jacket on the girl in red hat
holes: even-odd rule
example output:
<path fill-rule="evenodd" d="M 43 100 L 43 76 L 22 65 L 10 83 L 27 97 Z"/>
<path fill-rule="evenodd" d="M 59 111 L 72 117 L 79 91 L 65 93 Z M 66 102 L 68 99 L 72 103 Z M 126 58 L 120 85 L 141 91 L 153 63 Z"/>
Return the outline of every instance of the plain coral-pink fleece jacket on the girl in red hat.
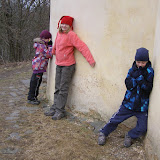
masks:
<path fill-rule="evenodd" d="M 77 48 L 86 58 L 89 64 L 95 62 L 87 45 L 79 39 L 76 33 L 69 31 L 66 33 L 57 33 L 52 54 L 56 55 L 56 65 L 70 66 L 75 64 L 74 48 Z"/>

